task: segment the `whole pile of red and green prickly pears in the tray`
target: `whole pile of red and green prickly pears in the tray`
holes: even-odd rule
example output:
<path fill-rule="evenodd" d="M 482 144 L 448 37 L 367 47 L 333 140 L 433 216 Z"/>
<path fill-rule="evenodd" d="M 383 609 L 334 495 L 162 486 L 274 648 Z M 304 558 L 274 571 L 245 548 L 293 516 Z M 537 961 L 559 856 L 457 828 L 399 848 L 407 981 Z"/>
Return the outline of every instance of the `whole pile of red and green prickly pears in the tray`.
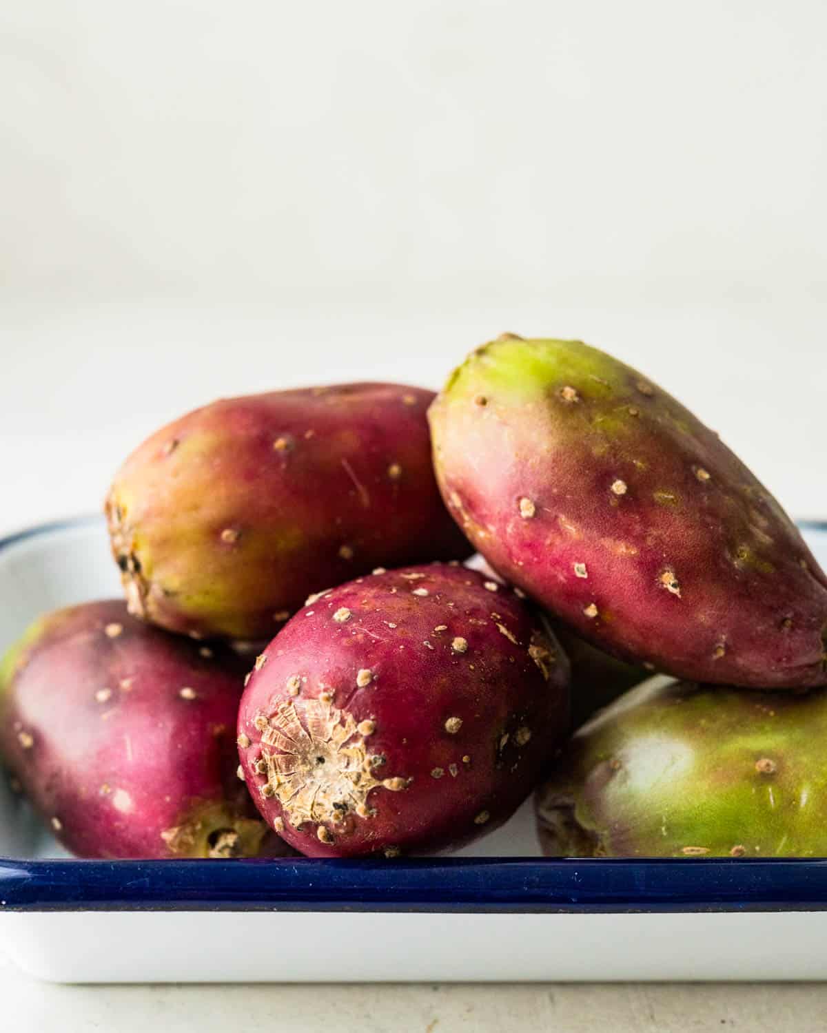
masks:
<path fill-rule="evenodd" d="M 221 401 L 106 514 L 126 601 L 0 668 L 4 762 L 75 854 L 427 854 L 533 790 L 550 855 L 827 853 L 827 576 L 601 351 Z"/>

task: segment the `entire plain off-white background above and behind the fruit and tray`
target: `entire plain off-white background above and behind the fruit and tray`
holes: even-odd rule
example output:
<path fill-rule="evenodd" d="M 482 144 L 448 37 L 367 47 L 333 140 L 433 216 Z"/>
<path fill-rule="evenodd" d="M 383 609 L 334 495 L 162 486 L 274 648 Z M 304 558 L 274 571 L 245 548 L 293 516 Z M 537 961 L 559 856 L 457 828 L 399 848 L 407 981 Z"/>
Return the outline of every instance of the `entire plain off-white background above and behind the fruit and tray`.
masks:
<path fill-rule="evenodd" d="M 217 395 L 615 350 L 827 515 L 822 0 L 0 3 L 0 532 Z"/>

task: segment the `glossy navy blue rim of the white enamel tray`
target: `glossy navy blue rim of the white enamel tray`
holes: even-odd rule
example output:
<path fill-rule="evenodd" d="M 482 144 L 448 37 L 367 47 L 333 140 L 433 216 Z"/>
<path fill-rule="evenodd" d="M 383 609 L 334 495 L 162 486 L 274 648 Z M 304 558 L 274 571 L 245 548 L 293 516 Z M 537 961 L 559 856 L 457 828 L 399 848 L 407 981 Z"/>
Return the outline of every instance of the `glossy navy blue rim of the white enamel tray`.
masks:
<path fill-rule="evenodd" d="M 95 514 L 24 528 L 30 538 Z M 827 531 L 827 521 L 799 521 Z M 2 911 L 715 912 L 825 911 L 827 858 L 13 860 Z"/>

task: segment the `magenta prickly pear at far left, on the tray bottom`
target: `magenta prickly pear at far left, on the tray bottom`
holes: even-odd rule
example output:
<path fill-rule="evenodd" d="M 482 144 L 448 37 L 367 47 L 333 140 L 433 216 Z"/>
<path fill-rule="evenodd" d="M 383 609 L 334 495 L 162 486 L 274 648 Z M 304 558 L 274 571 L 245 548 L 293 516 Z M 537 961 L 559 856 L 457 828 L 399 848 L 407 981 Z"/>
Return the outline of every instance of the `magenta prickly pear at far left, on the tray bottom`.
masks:
<path fill-rule="evenodd" d="M 122 600 L 57 611 L 0 667 L 0 754 L 78 856 L 289 852 L 236 774 L 242 670 Z"/>

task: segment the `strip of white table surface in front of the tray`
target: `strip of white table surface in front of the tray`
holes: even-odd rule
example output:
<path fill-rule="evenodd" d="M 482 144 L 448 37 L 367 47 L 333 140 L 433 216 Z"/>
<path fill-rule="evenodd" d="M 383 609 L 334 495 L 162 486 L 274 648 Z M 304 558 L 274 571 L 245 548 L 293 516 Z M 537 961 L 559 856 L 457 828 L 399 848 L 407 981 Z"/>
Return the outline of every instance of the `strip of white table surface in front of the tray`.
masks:
<path fill-rule="evenodd" d="M 4 1028 L 21 1033 L 820 1033 L 821 983 L 65 987 L 0 960 Z M 7 1024 L 7 1025 L 6 1025 Z"/>

